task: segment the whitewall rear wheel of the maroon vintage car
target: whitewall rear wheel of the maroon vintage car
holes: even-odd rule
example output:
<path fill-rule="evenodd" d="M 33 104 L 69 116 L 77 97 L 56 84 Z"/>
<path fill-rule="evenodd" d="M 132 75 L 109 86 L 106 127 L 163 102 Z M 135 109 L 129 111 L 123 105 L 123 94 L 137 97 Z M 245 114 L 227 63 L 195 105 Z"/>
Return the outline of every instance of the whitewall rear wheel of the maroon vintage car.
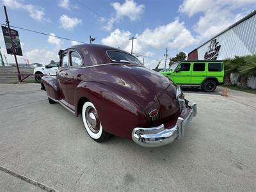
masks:
<path fill-rule="evenodd" d="M 102 128 L 99 115 L 92 102 L 85 102 L 82 109 L 84 127 L 88 135 L 97 142 L 108 140 L 110 134 Z"/>

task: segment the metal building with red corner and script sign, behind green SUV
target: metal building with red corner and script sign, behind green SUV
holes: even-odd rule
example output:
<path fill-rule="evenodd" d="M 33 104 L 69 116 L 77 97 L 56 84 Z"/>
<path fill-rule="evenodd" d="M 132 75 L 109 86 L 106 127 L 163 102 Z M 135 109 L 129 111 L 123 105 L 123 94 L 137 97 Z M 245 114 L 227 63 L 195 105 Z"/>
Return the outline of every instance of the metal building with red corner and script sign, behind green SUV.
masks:
<path fill-rule="evenodd" d="M 225 60 L 248 54 L 256 54 L 256 10 L 189 52 L 188 60 Z M 256 88 L 256 78 L 248 79 L 248 86 Z"/>

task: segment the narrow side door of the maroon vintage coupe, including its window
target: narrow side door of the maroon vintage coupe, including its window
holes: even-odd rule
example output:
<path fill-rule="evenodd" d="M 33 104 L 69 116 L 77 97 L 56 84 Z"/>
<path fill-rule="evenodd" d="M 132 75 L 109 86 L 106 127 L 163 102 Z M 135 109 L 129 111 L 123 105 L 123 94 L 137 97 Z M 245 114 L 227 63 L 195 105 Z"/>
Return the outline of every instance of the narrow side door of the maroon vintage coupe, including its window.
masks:
<path fill-rule="evenodd" d="M 61 98 L 68 102 L 67 94 L 67 76 L 68 76 L 68 52 L 64 52 L 61 56 L 60 68 L 57 72 L 57 78 L 60 83 Z"/>

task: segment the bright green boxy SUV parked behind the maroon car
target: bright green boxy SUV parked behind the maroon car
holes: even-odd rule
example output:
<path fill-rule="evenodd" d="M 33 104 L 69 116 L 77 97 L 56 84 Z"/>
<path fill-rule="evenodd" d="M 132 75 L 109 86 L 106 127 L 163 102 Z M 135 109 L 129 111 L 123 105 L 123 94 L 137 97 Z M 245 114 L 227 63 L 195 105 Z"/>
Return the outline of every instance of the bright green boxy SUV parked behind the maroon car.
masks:
<path fill-rule="evenodd" d="M 223 83 L 224 64 L 218 60 L 179 61 L 159 73 L 170 78 L 175 84 L 201 87 L 205 92 L 213 92 L 218 84 Z"/>

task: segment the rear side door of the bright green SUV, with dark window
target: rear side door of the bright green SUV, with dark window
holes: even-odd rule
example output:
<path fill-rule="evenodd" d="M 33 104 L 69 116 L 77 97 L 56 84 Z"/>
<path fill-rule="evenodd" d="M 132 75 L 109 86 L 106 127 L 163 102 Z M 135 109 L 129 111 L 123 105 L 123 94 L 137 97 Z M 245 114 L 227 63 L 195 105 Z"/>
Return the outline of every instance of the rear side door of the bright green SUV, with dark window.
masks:
<path fill-rule="evenodd" d="M 205 63 L 195 62 L 193 63 L 193 71 L 191 76 L 192 84 L 201 84 L 206 77 Z"/>

